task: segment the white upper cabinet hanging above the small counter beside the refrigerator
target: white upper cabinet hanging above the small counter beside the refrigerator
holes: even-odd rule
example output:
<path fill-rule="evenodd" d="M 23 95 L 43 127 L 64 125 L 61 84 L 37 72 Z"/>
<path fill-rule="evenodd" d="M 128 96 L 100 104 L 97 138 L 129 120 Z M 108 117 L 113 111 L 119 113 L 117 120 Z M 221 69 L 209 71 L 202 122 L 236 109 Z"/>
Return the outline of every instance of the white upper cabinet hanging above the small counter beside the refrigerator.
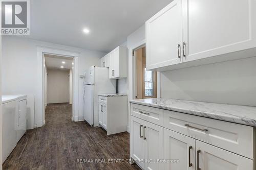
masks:
<path fill-rule="evenodd" d="M 110 52 L 110 79 L 122 79 L 127 77 L 127 48 L 116 47 Z"/>

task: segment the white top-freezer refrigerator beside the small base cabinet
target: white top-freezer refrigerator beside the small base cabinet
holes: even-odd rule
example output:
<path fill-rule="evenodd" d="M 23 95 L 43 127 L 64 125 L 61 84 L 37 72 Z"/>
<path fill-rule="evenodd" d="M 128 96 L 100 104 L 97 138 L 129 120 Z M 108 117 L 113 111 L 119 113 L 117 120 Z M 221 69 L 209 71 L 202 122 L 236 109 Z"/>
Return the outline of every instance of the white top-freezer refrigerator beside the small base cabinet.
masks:
<path fill-rule="evenodd" d="M 92 127 L 99 125 L 98 94 L 116 93 L 116 80 L 109 79 L 109 68 L 91 66 L 84 74 L 84 119 Z"/>

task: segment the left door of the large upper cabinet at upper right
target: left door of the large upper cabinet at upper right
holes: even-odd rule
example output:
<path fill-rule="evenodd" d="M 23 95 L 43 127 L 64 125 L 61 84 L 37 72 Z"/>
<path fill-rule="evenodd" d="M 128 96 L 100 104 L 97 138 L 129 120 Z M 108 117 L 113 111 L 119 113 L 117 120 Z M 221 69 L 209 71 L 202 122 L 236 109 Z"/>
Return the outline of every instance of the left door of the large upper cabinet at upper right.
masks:
<path fill-rule="evenodd" d="M 146 21 L 146 68 L 181 63 L 182 0 L 174 0 Z"/>

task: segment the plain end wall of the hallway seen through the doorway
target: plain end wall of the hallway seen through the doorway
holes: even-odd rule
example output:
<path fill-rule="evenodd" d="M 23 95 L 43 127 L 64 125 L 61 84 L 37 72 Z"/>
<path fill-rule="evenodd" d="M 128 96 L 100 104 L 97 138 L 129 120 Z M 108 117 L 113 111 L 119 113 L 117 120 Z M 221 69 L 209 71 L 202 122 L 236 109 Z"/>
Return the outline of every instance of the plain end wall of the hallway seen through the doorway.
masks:
<path fill-rule="evenodd" d="M 47 103 L 69 103 L 69 70 L 48 69 Z"/>

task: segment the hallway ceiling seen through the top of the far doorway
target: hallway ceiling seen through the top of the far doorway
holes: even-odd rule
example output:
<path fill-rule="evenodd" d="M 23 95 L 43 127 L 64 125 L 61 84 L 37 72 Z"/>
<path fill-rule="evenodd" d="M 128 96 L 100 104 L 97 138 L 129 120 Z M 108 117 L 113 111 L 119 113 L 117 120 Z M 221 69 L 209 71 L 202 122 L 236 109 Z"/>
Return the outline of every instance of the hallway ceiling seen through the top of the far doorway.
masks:
<path fill-rule="evenodd" d="M 45 54 L 45 61 L 47 69 L 72 69 L 73 58 Z M 65 64 L 62 64 L 62 61 Z M 60 68 L 60 66 L 63 66 L 63 68 Z"/>

